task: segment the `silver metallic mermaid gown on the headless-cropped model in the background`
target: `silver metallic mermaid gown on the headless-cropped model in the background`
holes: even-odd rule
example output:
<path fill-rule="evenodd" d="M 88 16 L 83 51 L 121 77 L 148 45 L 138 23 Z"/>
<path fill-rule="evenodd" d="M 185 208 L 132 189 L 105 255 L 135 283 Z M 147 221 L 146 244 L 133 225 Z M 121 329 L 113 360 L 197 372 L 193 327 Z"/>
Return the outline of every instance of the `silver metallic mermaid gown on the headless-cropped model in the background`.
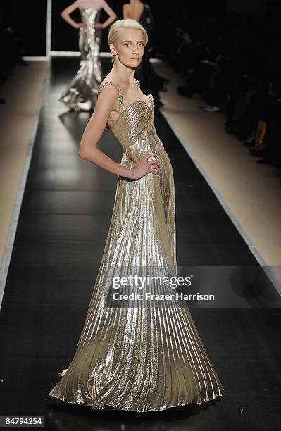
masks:
<path fill-rule="evenodd" d="M 90 111 L 96 105 L 101 84 L 101 29 L 94 27 L 99 23 L 101 9 L 81 8 L 81 21 L 87 27 L 79 29 L 80 68 L 63 89 L 60 101 L 75 111 Z"/>

